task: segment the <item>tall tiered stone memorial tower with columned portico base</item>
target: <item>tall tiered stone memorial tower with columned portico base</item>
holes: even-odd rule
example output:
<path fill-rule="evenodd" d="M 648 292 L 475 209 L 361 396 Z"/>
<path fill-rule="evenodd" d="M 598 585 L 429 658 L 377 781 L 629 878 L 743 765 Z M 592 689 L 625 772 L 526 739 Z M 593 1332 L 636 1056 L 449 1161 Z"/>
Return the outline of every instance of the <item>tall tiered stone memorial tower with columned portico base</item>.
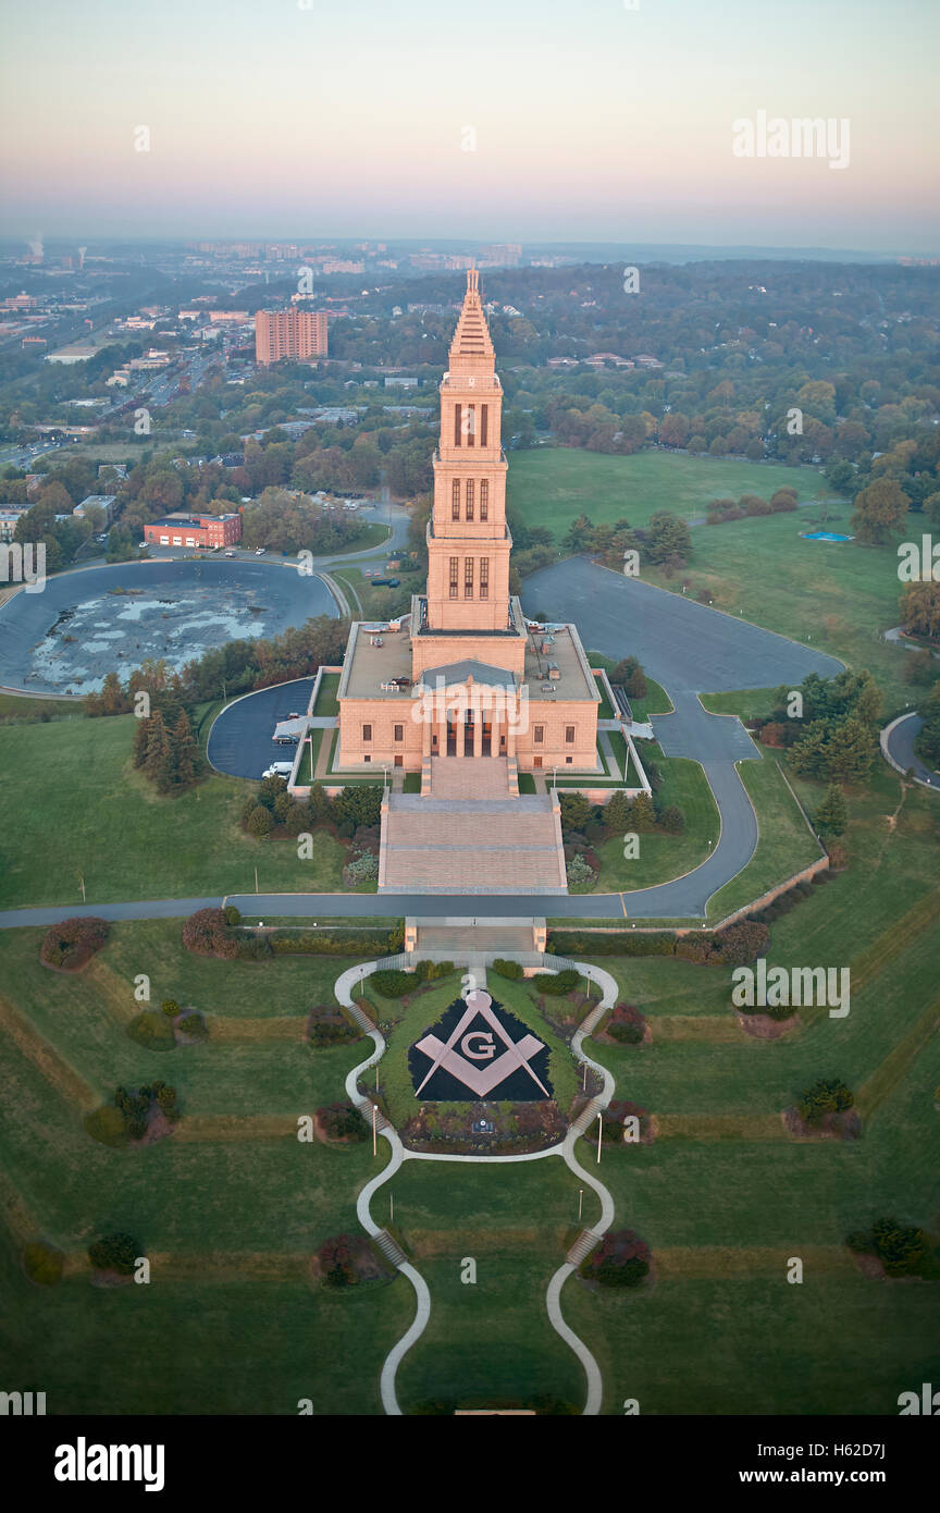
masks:
<path fill-rule="evenodd" d="M 420 772 L 422 796 L 393 794 L 393 809 L 487 797 L 521 814 L 550 800 L 520 799 L 520 772 L 600 770 L 600 694 L 576 626 L 533 626 L 509 593 L 503 390 L 476 269 L 440 395 L 428 587 L 391 626 L 352 626 L 335 766 Z"/>

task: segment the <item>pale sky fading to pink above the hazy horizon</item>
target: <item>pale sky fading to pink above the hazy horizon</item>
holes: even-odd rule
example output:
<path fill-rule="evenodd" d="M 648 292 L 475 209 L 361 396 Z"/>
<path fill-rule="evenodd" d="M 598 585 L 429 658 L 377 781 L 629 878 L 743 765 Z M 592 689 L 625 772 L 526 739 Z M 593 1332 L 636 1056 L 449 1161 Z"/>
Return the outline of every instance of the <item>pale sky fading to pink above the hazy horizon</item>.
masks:
<path fill-rule="evenodd" d="M 940 250 L 934 0 L 0 14 L 3 235 Z M 848 168 L 736 157 L 760 110 L 848 120 Z"/>

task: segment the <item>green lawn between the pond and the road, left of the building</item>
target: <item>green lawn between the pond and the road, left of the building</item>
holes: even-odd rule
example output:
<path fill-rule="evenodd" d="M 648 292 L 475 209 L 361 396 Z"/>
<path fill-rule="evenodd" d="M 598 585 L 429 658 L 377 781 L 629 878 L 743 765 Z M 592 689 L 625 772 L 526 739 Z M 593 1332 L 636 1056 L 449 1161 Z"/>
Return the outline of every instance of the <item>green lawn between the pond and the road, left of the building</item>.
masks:
<path fill-rule="evenodd" d="M 209 776 L 165 799 L 131 763 L 133 716 L 0 728 L 0 905 L 181 899 L 261 891 L 342 891 L 345 847 L 319 835 L 298 861 L 290 841 L 240 828 L 254 784 Z M 48 776 L 44 779 L 41 773 Z"/>

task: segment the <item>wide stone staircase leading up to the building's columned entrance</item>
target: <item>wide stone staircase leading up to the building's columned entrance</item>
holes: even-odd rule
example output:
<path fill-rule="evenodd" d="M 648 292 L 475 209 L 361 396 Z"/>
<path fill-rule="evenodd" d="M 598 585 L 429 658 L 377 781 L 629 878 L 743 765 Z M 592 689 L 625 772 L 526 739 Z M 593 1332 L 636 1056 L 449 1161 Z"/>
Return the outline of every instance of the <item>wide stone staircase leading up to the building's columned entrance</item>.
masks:
<path fill-rule="evenodd" d="M 431 793 L 382 809 L 379 893 L 567 893 L 549 794 L 511 796 L 506 758 L 432 758 Z"/>

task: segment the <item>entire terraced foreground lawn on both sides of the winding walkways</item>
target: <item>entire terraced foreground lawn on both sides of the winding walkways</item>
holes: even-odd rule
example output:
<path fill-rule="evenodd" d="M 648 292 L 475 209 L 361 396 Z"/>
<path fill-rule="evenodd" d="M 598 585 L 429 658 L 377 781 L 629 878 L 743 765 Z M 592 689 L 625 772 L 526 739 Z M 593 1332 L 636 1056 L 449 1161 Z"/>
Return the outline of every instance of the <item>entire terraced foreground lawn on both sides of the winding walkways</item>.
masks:
<path fill-rule="evenodd" d="M 801 794 L 812 806 L 813 785 Z M 600 1165 L 617 1226 L 653 1248 L 653 1285 L 614 1297 L 573 1278 L 562 1294 L 600 1365 L 606 1413 L 620 1415 L 627 1396 L 642 1413 L 895 1413 L 901 1390 L 932 1380 L 937 1283 L 869 1282 L 843 1247 L 851 1229 L 889 1212 L 938 1227 L 931 797 L 913 791 L 898 808 L 887 772 L 851 794 L 849 870 L 772 926 L 772 964 L 851 967 L 845 1020 L 810 1009 L 798 1032 L 753 1039 L 730 1012 L 727 973 L 600 958 L 653 1039 L 595 1041 L 591 1055 L 612 1070 L 617 1095 L 659 1126 L 653 1145 L 605 1147 Z M 39 967 L 39 930 L 0 935 L 5 1356 L 14 1372 L 29 1362 L 39 1374 L 53 1412 L 295 1413 L 308 1396 L 317 1413 L 378 1413 L 381 1362 L 411 1321 L 411 1291 L 399 1278 L 331 1295 L 308 1268 L 326 1235 L 355 1232 L 372 1147 L 290 1135 L 298 1114 L 342 1097 L 364 1055 L 364 1042 L 314 1052 L 301 1038 L 307 1009 L 328 999 L 346 962 L 193 958 L 178 929 L 116 926 L 77 977 Z M 171 994 L 207 1014 L 206 1044 L 157 1055 L 127 1038 L 141 973 L 153 1000 Z M 419 1029 L 458 983 L 455 974 L 414 1000 Z M 532 1023 L 524 985 L 490 986 Z M 393 1032 L 382 1080 L 400 1071 L 410 1033 Z M 172 1139 L 115 1151 L 85 1135 L 83 1106 L 154 1074 L 180 1094 Z M 821 1074 L 854 1089 L 860 1141 L 784 1135 L 780 1111 Z M 595 1170 L 588 1142 L 580 1159 Z M 405 1412 L 434 1401 L 580 1409 L 580 1368 L 544 1313 L 577 1229 L 577 1182 L 562 1162 L 407 1162 L 373 1200 L 379 1223 L 390 1198 L 432 1295 L 428 1330 L 399 1372 Z M 586 1192 L 583 1223 L 595 1218 Z M 109 1229 L 141 1239 L 150 1289 L 89 1286 L 85 1247 Z M 36 1289 L 20 1269 L 18 1247 L 35 1236 L 68 1257 L 56 1289 Z M 792 1256 L 804 1260 L 802 1286 L 784 1280 Z M 461 1282 L 465 1257 L 476 1260 L 472 1285 Z M 148 1371 L 113 1369 L 115 1334 Z M 357 1372 L 342 1366 L 351 1356 Z"/>

